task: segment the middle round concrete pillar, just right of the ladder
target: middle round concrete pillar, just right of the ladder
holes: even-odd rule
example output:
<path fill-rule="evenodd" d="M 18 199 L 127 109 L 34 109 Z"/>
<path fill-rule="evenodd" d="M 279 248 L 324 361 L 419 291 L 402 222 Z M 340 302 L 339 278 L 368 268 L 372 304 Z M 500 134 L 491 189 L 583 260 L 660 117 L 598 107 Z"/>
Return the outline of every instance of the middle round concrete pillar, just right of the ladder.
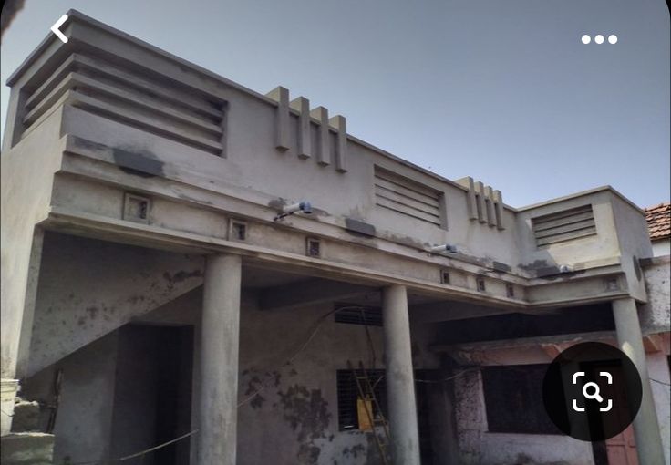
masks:
<path fill-rule="evenodd" d="M 419 434 L 406 288 L 396 284 L 385 288 L 382 308 L 391 460 L 394 465 L 418 465 Z"/>

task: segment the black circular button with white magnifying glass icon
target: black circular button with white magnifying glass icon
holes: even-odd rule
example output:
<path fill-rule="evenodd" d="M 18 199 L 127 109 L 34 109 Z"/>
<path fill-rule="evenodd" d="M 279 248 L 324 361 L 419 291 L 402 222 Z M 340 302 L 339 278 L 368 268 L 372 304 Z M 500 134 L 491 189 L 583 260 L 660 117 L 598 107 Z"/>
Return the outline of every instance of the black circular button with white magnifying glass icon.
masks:
<path fill-rule="evenodd" d="M 556 356 L 542 382 L 542 400 L 554 425 L 585 441 L 613 438 L 641 407 L 634 362 L 614 346 L 585 342 Z"/>

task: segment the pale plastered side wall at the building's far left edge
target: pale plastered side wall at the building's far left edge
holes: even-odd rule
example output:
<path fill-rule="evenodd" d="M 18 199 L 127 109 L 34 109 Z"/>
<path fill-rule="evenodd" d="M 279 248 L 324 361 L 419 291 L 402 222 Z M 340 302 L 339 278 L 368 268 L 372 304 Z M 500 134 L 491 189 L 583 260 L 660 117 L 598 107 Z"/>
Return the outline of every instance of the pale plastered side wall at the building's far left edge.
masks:
<path fill-rule="evenodd" d="M 4 150 L 0 157 L 4 378 L 14 378 L 18 359 L 27 355 L 41 250 L 41 233 L 36 232 L 35 225 L 48 213 L 53 173 L 61 157 L 57 143 L 60 122 L 60 113 L 53 113 L 31 137 L 18 142 L 12 150 Z"/>

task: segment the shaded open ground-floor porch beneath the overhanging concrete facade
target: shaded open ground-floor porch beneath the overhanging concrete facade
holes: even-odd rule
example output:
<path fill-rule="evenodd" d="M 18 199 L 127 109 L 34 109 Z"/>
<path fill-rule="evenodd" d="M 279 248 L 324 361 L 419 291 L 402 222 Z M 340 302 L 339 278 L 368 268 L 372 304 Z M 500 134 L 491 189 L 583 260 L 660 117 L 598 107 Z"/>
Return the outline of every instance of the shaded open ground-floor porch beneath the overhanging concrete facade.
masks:
<path fill-rule="evenodd" d="M 638 463 L 643 423 L 583 442 L 542 403 L 559 352 L 626 337 L 613 308 L 511 312 L 47 232 L 13 428 L 53 433 L 59 465 Z M 639 343 L 668 463 L 669 335 Z"/>

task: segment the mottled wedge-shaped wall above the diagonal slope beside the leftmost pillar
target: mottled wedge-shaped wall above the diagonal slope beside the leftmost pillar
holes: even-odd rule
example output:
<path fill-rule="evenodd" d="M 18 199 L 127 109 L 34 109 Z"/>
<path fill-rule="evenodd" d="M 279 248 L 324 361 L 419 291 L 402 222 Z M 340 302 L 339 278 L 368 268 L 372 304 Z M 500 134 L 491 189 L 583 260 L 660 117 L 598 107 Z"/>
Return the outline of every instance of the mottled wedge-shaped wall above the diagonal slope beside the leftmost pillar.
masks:
<path fill-rule="evenodd" d="M 27 373 L 201 285 L 202 265 L 201 256 L 46 234 Z"/>

